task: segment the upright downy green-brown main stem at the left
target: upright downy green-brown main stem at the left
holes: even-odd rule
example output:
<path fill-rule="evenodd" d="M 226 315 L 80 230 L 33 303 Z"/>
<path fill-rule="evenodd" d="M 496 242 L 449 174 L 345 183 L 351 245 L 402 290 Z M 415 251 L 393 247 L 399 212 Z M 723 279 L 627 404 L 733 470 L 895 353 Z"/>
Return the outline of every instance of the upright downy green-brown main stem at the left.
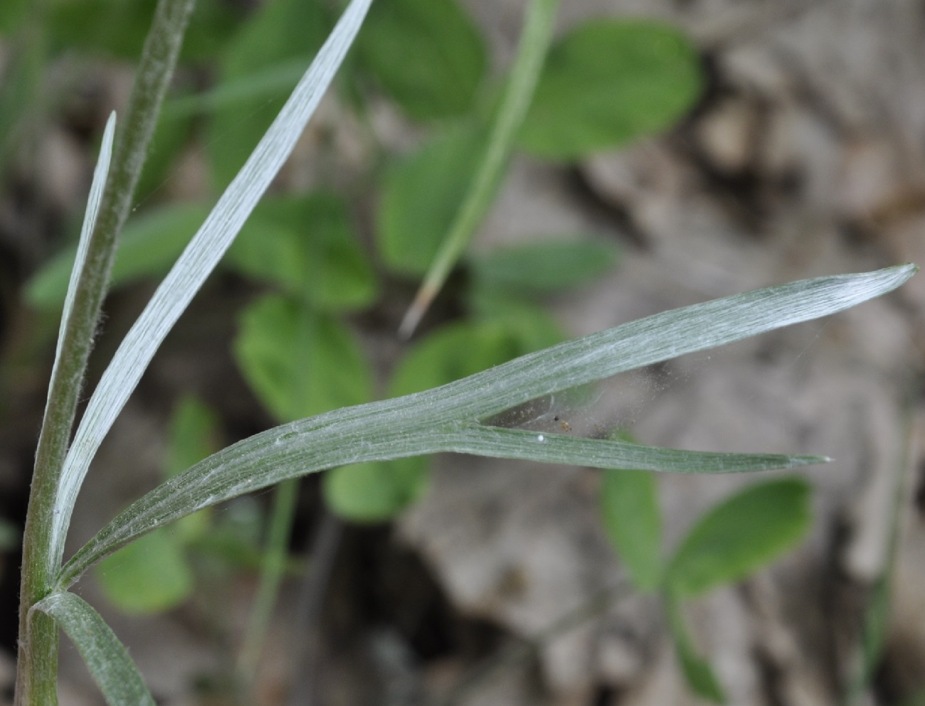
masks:
<path fill-rule="evenodd" d="M 55 585 L 63 541 L 53 542 L 51 519 L 80 386 L 93 347 L 117 236 L 129 214 L 132 194 L 194 4 L 195 0 L 161 0 L 155 10 L 117 138 L 86 265 L 80 273 L 64 331 L 59 365 L 50 383 L 23 534 L 16 706 L 51 706 L 57 702 L 57 628 L 47 615 L 30 617 L 30 609 Z"/>

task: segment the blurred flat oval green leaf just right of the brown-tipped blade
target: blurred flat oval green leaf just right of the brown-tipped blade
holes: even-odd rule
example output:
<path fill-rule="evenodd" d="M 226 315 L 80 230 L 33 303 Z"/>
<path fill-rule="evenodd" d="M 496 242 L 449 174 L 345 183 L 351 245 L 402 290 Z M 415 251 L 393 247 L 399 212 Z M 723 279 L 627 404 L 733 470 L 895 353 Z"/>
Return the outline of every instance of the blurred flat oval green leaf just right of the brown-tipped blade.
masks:
<path fill-rule="evenodd" d="M 617 263 L 617 248 L 587 238 L 544 239 L 475 253 L 468 261 L 479 284 L 537 294 L 607 274 Z"/>

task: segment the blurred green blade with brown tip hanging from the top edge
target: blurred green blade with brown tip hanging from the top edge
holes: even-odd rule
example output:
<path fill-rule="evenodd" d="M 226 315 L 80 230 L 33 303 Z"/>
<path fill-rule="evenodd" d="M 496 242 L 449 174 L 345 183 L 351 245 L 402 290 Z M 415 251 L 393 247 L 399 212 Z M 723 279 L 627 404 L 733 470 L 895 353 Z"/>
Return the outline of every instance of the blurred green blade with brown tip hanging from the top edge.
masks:
<path fill-rule="evenodd" d="M 475 229 L 494 200 L 503 170 L 513 151 L 517 130 L 524 122 L 539 80 L 559 0 L 532 0 L 527 8 L 524 31 L 517 48 L 511 79 L 500 105 L 488 140 L 487 152 L 472 186 L 462 202 L 450 232 L 438 250 L 411 307 L 401 322 L 399 333 L 407 338 L 414 333 L 430 302 L 437 297 L 453 265 L 460 259 L 475 234 Z"/>

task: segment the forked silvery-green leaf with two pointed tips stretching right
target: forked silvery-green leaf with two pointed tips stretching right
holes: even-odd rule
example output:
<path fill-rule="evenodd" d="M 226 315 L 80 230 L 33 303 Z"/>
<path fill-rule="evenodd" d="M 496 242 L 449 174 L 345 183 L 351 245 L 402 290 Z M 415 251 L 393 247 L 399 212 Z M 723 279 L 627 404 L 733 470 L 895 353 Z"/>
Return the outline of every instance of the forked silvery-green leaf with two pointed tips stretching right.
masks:
<path fill-rule="evenodd" d="M 59 585 L 135 537 L 208 505 L 347 463 L 436 452 L 598 468 L 717 472 L 820 462 L 814 456 L 708 454 L 479 424 L 539 396 L 845 310 L 902 285 L 901 265 L 759 289 L 666 311 L 531 353 L 440 387 L 284 424 L 210 456 L 113 519 L 62 569 Z"/>

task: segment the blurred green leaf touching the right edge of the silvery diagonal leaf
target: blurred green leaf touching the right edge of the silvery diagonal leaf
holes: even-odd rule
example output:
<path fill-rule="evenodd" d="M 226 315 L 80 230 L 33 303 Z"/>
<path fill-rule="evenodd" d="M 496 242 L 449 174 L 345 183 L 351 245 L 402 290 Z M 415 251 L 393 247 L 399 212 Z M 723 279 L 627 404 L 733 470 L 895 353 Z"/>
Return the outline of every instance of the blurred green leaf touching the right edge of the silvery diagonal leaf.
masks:
<path fill-rule="evenodd" d="M 263 227 L 240 234 L 228 266 L 304 298 L 315 310 L 362 309 L 376 298 L 376 274 L 338 196 L 267 199 L 253 218 Z"/>

